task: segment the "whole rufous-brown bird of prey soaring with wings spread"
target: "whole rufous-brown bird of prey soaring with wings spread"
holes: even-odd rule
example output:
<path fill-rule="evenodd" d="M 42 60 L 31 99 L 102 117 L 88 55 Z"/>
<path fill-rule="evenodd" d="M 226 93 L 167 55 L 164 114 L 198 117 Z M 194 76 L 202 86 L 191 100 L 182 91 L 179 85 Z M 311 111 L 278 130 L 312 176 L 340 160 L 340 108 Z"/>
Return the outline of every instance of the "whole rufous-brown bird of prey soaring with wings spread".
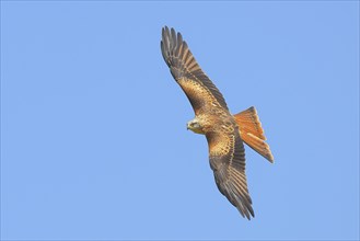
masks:
<path fill-rule="evenodd" d="M 195 118 L 187 123 L 187 128 L 207 138 L 210 167 L 219 191 L 249 220 L 255 215 L 247 190 L 243 142 L 274 162 L 255 107 L 230 114 L 222 94 L 174 28 L 162 28 L 161 51 L 194 108 Z"/>

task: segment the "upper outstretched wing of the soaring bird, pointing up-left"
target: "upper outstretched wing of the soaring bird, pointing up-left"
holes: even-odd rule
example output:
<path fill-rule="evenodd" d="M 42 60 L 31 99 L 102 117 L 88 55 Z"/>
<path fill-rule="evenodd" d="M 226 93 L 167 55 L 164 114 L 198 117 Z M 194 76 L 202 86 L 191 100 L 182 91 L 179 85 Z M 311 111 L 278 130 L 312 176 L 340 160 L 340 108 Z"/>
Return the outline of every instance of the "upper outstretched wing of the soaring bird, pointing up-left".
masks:
<path fill-rule="evenodd" d="M 222 94 L 201 70 L 181 33 L 163 27 L 161 51 L 172 76 L 189 99 L 195 114 L 211 107 L 228 110 Z"/>

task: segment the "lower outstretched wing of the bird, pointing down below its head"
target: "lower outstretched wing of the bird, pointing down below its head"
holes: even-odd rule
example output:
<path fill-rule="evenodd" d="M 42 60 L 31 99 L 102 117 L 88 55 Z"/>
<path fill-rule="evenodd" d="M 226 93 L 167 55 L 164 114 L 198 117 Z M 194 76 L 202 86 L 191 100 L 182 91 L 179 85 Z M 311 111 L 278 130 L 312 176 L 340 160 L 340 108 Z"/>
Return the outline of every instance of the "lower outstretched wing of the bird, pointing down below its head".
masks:
<path fill-rule="evenodd" d="M 245 175 L 245 150 L 233 124 L 223 126 L 222 130 L 206 135 L 209 144 L 210 167 L 219 191 L 228 197 L 240 214 L 247 219 L 254 217 Z"/>

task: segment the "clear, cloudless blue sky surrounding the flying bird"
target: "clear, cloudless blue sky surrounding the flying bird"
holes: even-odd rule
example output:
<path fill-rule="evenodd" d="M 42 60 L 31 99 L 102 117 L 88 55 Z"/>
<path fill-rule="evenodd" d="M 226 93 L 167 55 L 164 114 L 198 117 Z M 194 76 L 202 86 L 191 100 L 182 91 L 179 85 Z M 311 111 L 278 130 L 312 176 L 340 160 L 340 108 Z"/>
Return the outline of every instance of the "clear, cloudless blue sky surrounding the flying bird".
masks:
<path fill-rule="evenodd" d="M 1 1 L 1 239 L 359 239 L 359 2 Z M 219 193 L 173 26 L 275 164 Z"/>

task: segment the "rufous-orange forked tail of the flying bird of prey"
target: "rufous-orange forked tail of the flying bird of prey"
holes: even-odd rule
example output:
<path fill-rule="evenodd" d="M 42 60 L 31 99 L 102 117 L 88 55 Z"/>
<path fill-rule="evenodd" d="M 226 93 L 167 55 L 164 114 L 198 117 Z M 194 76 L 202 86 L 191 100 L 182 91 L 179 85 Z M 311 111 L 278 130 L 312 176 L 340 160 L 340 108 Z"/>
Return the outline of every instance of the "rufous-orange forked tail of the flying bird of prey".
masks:
<path fill-rule="evenodd" d="M 234 115 L 234 117 L 240 128 L 240 136 L 244 142 L 272 163 L 274 157 L 269 145 L 265 142 L 266 137 L 255 107 L 252 106 Z"/>

